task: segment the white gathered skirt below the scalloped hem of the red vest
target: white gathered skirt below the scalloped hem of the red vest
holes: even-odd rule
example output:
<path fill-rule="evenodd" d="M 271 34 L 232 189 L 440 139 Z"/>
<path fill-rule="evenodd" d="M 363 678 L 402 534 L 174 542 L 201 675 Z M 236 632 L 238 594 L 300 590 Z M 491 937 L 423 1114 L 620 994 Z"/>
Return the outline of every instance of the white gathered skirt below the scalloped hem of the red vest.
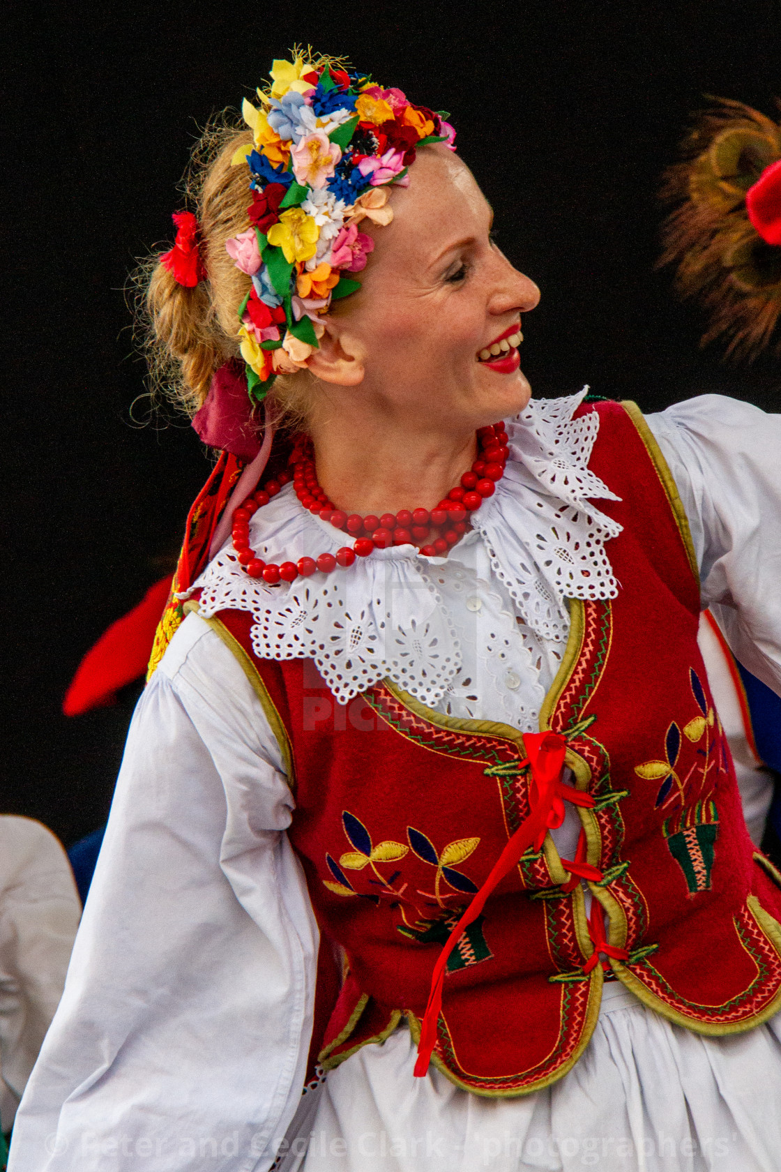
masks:
<path fill-rule="evenodd" d="M 704 1037 L 608 982 L 580 1062 L 514 1099 L 471 1095 L 436 1068 L 415 1078 L 415 1058 L 400 1027 L 331 1071 L 288 1132 L 280 1170 L 781 1168 L 781 1014 L 746 1034 Z"/>

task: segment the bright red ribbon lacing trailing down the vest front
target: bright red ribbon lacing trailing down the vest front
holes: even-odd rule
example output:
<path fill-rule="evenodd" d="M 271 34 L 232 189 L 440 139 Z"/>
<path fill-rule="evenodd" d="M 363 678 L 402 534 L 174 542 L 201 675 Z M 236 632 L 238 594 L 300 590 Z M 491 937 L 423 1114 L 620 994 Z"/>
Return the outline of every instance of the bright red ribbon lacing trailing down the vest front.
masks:
<path fill-rule="evenodd" d="M 523 819 L 515 833 L 508 840 L 501 852 L 488 878 L 482 887 L 477 892 L 472 902 L 464 912 L 444 946 L 431 975 L 431 990 L 429 1003 L 420 1023 L 420 1041 L 418 1043 L 418 1057 L 415 1064 L 416 1078 L 423 1078 L 429 1070 L 431 1055 L 437 1042 L 437 1022 L 441 1010 L 443 981 L 445 979 L 445 966 L 447 958 L 458 943 L 465 928 L 477 920 L 482 911 L 488 895 L 505 875 L 518 865 L 521 856 L 528 846 L 534 845 L 535 851 L 542 846 L 549 830 L 561 826 L 564 820 L 564 802 L 574 805 L 592 806 L 594 798 L 590 793 L 575 790 L 571 785 L 564 785 L 561 774 L 564 768 L 564 755 L 567 742 L 559 732 L 525 732 L 523 744 L 528 754 L 523 761 L 519 762 L 519 769 L 526 765 L 532 771 L 529 784 L 529 805 L 532 812 Z M 580 849 L 580 843 L 578 843 Z M 562 860 L 563 861 L 563 860 Z M 564 866 L 577 866 L 581 871 L 596 871 L 580 860 L 575 864 L 564 863 Z M 600 878 L 602 873 L 597 872 Z M 591 878 L 591 875 L 587 875 Z M 604 932 L 603 932 L 604 935 Z M 604 948 L 602 949 L 604 952 Z M 597 953 L 595 952 L 595 956 Z M 612 954 L 611 954 L 612 955 Z M 589 960 L 590 962 L 590 960 Z M 595 961 L 596 963 L 596 961 Z M 594 967 L 594 966 L 591 966 Z"/>

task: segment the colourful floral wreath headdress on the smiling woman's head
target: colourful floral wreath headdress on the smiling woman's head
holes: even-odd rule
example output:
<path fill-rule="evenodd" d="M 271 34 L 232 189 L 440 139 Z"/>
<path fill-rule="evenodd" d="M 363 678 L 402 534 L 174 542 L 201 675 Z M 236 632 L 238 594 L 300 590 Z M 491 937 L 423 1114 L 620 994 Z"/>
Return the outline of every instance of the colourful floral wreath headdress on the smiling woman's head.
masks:
<path fill-rule="evenodd" d="M 388 189 L 409 184 L 416 149 L 455 149 L 445 110 L 415 105 L 343 59 L 300 49 L 292 57 L 274 61 L 270 82 L 258 89 L 260 108 L 245 98 L 253 143 L 232 159 L 251 173 L 252 226 L 226 248 L 252 279 L 239 336 L 258 402 L 278 374 L 306 367 L 331 301 L 361 288 L 352 274 L 375 245 L 358 225 L 390 224 Z"/>

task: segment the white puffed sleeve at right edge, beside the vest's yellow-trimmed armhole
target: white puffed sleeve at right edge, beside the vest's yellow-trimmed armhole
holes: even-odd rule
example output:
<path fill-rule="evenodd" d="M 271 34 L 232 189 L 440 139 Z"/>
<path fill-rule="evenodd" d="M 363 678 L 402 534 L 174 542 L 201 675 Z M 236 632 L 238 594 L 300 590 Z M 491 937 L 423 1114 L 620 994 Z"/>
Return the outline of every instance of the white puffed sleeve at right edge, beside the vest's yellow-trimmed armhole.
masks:
<path fill-rule="evenodd" d="M 648 423 L 688 517 L 710 607 L 740 662 L 781 693 L 781 415 L 724 395 Z"/>

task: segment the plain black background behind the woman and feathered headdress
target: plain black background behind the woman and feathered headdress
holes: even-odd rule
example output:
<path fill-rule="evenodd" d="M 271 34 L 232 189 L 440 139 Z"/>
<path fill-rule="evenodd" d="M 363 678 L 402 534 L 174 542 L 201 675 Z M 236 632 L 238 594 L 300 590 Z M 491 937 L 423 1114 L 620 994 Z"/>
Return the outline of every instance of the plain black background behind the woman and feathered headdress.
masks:
<path fill-rule="evenodd" d="M 1 808 L 67 845 L 105 817 L 139 687 L 74 720 L 66 687 L 166 571 L 210 466 L 186 421 L 143 397 L 123 286 L 172 238 L 197 125 L 294 42 L 452 111 L 500 245 L 542 288 L 525 327 L 535 394 L 588 382 L 653 410 L 720 390 L 779 409 L 777 364 L 698 350 L 699 313 L 653 268 L 659 175 L 703 95 L 774 110 L 777 0 L 105 0 L 16 5 L 4 40 Z"/>

